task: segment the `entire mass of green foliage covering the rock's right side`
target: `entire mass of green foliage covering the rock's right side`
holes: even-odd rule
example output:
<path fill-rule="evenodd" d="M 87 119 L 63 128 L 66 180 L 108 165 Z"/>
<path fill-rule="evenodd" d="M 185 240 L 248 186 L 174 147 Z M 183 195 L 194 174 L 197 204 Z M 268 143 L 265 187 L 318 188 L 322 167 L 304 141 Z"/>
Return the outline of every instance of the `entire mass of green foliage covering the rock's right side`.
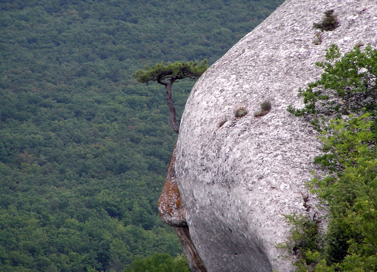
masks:
<path fill-rule="evenodd" d="M 315 159 L 325 177 L 310 182 L 329 210 L 326 234 L 313 219 L 286 216 L 291 236 L 278 247 L 297 258 L 297 271 L 377 270 L 377 51 L 355 47 L 340 56 L 332 45 L 319 81 L 300 91 L 305 107 L 288 112 L 311 117 L 322 131 L 323 155 Z M 314 225 L 313 225 L 314 224 Z"/>

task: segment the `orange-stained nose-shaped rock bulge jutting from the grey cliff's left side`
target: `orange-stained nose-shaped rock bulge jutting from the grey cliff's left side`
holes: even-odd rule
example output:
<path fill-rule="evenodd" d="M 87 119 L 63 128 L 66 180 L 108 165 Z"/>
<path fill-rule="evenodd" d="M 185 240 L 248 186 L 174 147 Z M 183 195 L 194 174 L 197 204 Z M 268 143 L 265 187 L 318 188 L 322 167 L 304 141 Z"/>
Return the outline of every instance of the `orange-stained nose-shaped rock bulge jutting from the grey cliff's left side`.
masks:
<path fill-rule="evenodd" d="M 172 158 L 170 159 L 167 178 L 162 188 L 160 199 L 158 200 L 158 210 L 162 220 L 170 226 L 187 226 L 186 210 L 182 203 L 181 193 L 179 193 L 177 179 L 175 176 L 175 156 L 174 147 Z"/>

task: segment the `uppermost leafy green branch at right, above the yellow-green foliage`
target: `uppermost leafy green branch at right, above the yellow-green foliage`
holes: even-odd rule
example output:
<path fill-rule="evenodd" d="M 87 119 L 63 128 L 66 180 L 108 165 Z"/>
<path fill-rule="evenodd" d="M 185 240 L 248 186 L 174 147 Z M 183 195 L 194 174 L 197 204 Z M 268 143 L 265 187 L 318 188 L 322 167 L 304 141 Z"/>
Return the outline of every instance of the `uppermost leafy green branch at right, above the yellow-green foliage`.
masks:
<path fill-rule="evenodd" d="M 340 57 L 339 48 L 332 44 L 326 49 L 326 61 L 317 62 L 324 72 L 321 79 L 309 83 L 303 96 L 302 109 L 288 106 L 287 111 L 295 116 L 349 115 L 376 111 L 377 99 L 377 50 L 368 45 L 365 52 L 354 47 Z"/>

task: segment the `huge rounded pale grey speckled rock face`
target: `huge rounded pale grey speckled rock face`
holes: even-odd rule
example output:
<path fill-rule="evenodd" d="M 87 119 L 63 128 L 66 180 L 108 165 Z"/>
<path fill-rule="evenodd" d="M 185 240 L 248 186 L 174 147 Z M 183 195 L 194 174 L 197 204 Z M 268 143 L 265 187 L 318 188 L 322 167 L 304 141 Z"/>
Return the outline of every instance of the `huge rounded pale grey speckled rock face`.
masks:
<path fill-rule="evenodd" d="M 315 45 L 313 23 L 329 9 L 340 26 Z M 314 63 L 324 60 L 330 44 L 344 53 L 359 41 L 375 47 L 376 37 L 375 0 L 287 0 L 195 84 L 175 171 L 190 235 L 208 272 L 293 270 L 274 245 L 289 234 L 281 214 L 307 212 L 302 195 L 320 142 L 286 108 L 302 107 L 297 89 L 319 78 Z M 265 100 L 271 111 L 254 118 Z M 239 107 L 248 114 L 233 119 Z M 315 197 L 309 204 L 315 212 Z"/>

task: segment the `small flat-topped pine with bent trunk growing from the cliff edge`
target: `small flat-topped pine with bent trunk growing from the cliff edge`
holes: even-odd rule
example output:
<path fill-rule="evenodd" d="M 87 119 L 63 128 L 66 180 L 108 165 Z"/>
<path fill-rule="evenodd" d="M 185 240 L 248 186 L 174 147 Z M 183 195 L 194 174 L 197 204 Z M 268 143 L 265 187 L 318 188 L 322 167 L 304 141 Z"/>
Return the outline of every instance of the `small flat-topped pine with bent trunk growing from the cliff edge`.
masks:
<path fill-rule="evenodd" d="M 179 126 L 176 121 L 176 112 L 172 99 L 172 85 L 175 81 L 183 78 L 198 79 L 205 70 L 208 69 L 207 59 L 200 63 L 197 61 L 188 61 L 186 63 L 176 61 L 175 63 L 167 63 L 162 61 L 156 63 L 154 66 L 145 66 L 145 70 L 139 69 L 132 74 L 134 78 L 140 83 L 147 83 L 148 81 L 157 81 L 166 88 L 166 101 L 170 110 L 170 124 L 176 133 L 179 133 Z"/>

